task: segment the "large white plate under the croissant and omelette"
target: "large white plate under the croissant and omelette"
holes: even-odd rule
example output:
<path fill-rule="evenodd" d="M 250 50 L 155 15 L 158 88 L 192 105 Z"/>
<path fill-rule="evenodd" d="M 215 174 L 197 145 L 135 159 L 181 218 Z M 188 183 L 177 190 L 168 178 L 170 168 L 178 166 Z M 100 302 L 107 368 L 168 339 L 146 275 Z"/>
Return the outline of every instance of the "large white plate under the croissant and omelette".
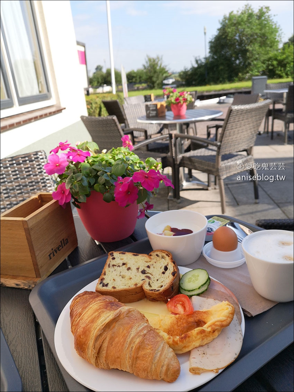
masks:
<path fill-rule="evenodd" d="M 181 274 L 184 274 L 190 269 L 179 267 L 179 270 Z M 75 296 L 83 291 L 95 291 L 96 283 L 97 279 L 92 283 L 89 283 L 83 289 L 79 290 Z M 185 354 L 177 354 L 181 365 L 181 372 L 178 379 L 173 383 L 166 383 L 165 381 L 158 380 L 146 380 L 136 377 L 131 373 L 123 372 L 122 370 L 117 369 L 98 369 L 85 361 L 85 359 L 79 357 L 76 353 L 76 350 L 74 349 L 74 337 L 70 332 L 69 307 L 71 301 L 72 299 L 70 299 L 67 305 L 65 305 L 56 323 L 54 334 L 55 349 L 62 366 L 65 368 L 65 370 L 67 370 L 70 376 L 93 391 L 189 391 L 207 383 L 207 381 L 210 381 L 216 377 L 223 370 L 220 370 L 219 373 L 205 372 L 200 375 L 191 374 L 189 372 L 190 352 Z M 242 315 L 241 328 L 242 334 L 244 336 L 245 320 L 241 307 L 240 311 Z"/>

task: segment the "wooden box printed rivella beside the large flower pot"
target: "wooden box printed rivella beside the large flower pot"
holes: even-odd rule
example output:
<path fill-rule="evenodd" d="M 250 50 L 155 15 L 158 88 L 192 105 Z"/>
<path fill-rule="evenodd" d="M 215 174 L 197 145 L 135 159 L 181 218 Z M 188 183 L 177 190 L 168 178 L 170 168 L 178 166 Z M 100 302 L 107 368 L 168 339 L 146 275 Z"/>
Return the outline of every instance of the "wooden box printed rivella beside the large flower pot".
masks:
<path fill-rule="evenodd" d="M 2 285 L 33 286 L 78 246 L 70 203 L 64 209 L 51 193 L 32 196 L 0 220 Z"/>

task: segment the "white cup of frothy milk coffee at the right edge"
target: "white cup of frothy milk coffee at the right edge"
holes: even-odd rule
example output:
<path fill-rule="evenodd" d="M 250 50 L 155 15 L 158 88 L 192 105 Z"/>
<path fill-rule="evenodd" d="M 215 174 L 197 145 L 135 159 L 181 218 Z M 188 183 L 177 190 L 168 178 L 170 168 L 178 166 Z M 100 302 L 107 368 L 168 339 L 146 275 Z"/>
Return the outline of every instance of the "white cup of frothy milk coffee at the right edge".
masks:
<path fill-rule="evenodd" d="M 292 231 L 260 230 L 242 241 L 243 253 L 254 289 L 277 302 L 294 299 Z"/>

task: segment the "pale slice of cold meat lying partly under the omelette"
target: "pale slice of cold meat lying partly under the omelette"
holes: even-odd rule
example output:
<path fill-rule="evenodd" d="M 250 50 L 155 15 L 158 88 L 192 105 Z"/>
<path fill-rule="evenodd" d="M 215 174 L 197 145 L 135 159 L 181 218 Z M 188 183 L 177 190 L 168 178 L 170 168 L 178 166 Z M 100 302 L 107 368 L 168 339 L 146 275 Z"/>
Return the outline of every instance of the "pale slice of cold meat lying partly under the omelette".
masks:
<path fill-rule="evenodd" d="M 213 294 L 215 296 L 216 294 L 219 298 L 204 298 L 203 294 L 202 296 L 194 296 L 192 297 L 192 303 L 195 310 L 209 309 L 211 306 L 216 305 L 216 303 L 223 300 L 220 299 L 224 296 L 223 290 L 218 291 L 214 287 L 212 287 L 211 290 L 213 290 L 211 295 Z M 208 295 L 210 295 L 210 293 L 208 293 Z M 225 295 L 229 295 L 229 293 L 227 292 Z M 231 296 L 231 300 L 233 297 Z M 227 300 L 229 301 L 229 299 Z M 236 307 L 237 306 L 235 306 L 235 309 Z M 204 346 L 196 347 L 191 350 L 189 371 L 193 374 L 201 374 L 209 371 L 218 373 L 220 369 L 225 368 L 237 358 L 240 353 L 242 343 L 242 329 L 238 321 L 237 314 L 235 313 L 231 324 L 224 328 L 217 338 Z"/>

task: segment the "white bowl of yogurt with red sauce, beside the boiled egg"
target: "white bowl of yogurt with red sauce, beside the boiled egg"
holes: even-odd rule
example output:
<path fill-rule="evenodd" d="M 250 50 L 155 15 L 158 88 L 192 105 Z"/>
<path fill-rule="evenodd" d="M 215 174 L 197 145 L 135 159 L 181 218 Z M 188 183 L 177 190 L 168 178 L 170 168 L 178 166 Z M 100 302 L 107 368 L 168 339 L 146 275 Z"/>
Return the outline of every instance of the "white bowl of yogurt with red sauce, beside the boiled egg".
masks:
<path fill-rule="evenodd" d="M 193 233 L 184 236 L 164 236 L 161 233 L 166 225 L 190 229 Z M 177 265 L 188 265 L 199 258 L 205 241 L 206 227 L 206 217 L 189 210 L 160 212 L 151 216 L 145 223 L 152 249 L 167 250 Z"/>

